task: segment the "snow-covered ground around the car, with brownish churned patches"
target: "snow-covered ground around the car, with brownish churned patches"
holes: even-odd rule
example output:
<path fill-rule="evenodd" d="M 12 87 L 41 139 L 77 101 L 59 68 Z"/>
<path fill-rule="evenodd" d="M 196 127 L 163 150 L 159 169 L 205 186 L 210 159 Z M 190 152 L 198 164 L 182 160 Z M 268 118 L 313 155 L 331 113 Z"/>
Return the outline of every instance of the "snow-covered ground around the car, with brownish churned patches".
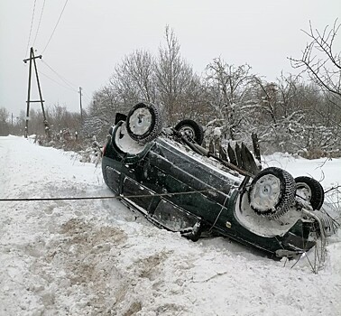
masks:
<path fill-rule="evenodd" d="M 266 157 L 324 187 L 341 160 Z M 112 195 L 94 164 L 0 137 L 0 199 Z M 0 315 L 341 315 L 341 234 L 325 267 L 273 261 L 226 238 L 193 243 L 117 200 L 0 201 Z"/>

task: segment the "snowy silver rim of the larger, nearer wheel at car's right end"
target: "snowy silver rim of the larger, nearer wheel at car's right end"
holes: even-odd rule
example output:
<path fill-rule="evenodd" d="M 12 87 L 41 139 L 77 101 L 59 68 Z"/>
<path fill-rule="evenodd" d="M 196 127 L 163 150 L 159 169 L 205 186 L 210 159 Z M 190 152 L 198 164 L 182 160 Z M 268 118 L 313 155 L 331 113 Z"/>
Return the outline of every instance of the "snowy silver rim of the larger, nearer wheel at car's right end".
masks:
<path fill-rule="evenodd" d="M 251 205 L 260 212 L 275 209 L 281 195 L 281 181 L 273 174 L 261 177 L 253 186 Z"/>

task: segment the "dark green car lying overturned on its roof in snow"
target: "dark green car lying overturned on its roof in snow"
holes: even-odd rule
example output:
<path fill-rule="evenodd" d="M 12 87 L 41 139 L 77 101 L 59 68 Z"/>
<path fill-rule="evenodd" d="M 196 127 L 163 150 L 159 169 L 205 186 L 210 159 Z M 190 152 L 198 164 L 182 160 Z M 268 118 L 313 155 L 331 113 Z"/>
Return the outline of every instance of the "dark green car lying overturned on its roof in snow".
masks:
<path fill-rule="evenodd" d="M 299 256 L 333 232 L 318 181 L 261 170 L 244 144 L 218 157 L 200 145 L 194 121 L 166 128 L 158 107 L 139 103 L 117 114 L 109 133 L 106 185 L 160 228 L 192 240 L 229 237 L 277 257 Z"/>

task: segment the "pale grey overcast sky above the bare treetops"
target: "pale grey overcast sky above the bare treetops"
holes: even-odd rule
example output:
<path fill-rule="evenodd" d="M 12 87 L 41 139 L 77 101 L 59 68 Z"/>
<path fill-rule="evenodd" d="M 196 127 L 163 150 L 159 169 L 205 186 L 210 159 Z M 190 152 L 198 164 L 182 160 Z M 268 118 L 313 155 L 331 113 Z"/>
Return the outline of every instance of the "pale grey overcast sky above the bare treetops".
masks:
<path fill-rule="evenodd" d="M 167 24 L 198 74 L 220 56 L 229 64 L 248 63 L 254 74 L 271 81 L 281 70 L 295 73 L 287 57 L 300 57 L 308 41 L 301 29 L 309 29 L 309 20 L 323 29 L 341 15 L 340 0 L 69 0 L 60 17 L 65 4 L 0 0 L 0 107 L 14 116 L 26 108 L 29 68 L 23 59 L 31 46 L 36 55 L 42 53 L 37 67 L 45 106 L 78 111 L 79 87 L 87 107 L 124 55 L 136 49 L 157 53 Z M 341 51 L 340 38 L 341 31 L 336 51 Z"/>

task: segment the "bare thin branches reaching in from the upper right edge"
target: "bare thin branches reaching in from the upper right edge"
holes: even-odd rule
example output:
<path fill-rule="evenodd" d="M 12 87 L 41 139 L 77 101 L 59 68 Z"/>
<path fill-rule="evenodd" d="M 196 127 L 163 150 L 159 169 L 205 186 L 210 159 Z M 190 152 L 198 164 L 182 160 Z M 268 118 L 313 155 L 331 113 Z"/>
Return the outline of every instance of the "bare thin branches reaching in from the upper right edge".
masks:
<path fill-rule="evenodd" d="M 334 51 L 336 35 L 341 24 L 337 19 L 330 28 L 328 25 L 320 32 L 313 29 L 309 22 L 309 31 L 303 31 L 309 37 L 300 59 L 290 58 L 291 66 L 303 69 L 309 78 L 320 88 L 328 91 L 341 100 L 341 52 Z"/>

